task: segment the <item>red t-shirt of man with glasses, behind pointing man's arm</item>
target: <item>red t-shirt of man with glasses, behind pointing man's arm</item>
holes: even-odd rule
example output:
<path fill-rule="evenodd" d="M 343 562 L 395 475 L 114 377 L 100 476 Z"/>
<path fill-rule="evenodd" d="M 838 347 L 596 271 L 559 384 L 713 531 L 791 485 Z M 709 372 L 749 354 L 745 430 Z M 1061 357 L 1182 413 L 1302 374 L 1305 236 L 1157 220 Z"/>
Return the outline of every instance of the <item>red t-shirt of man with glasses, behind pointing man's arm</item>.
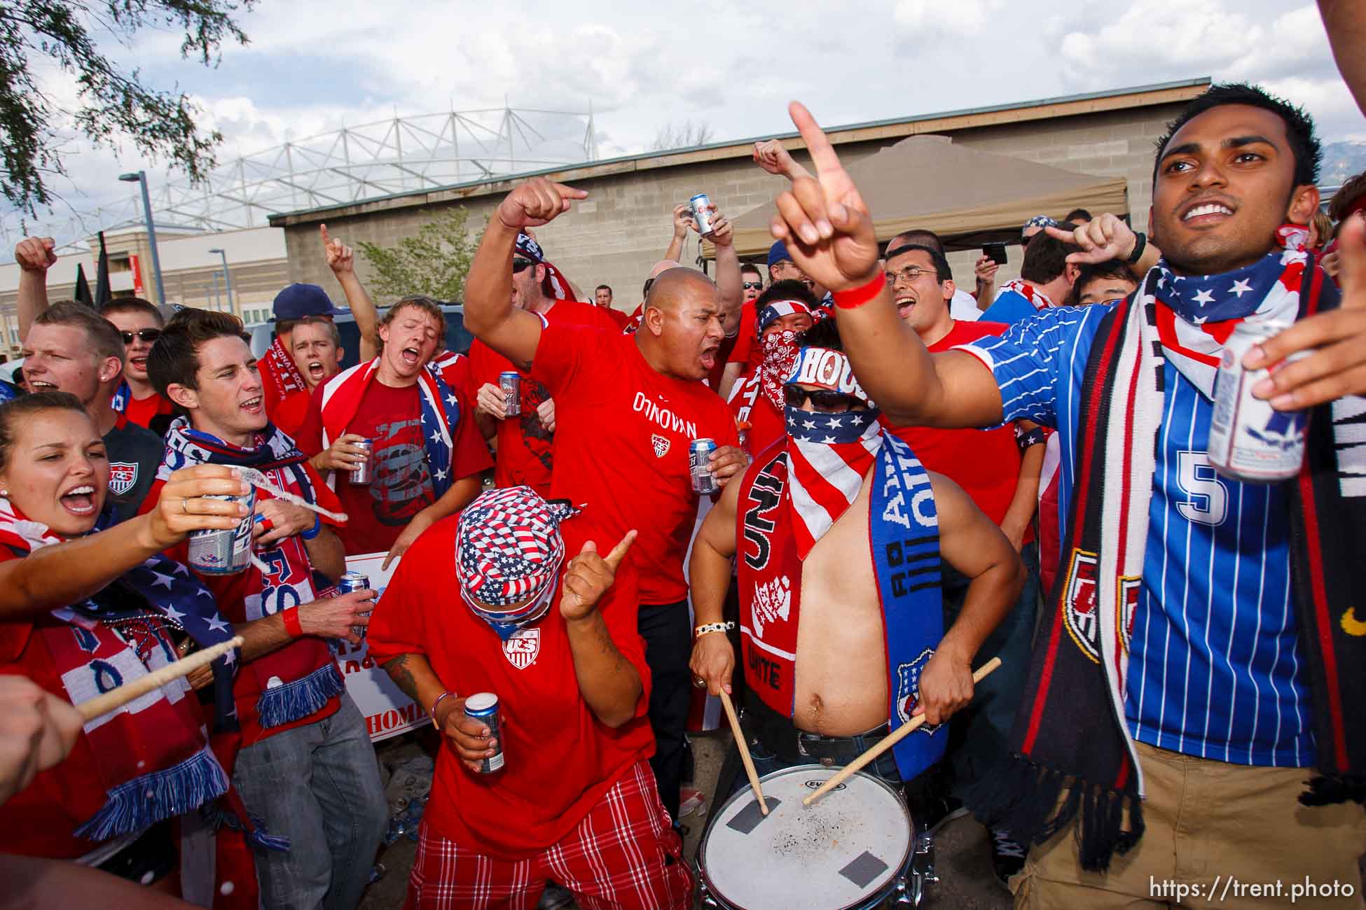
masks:
<path fill-rule="evenodd" d="M 947 336 L 929 345 L 929 351 L 948 351 L 985 336 L 999 336 L 1008 327 L 1004 322 L 958 319 Z M 996 524 L 1001 523 L 1015 498 L 1020 476 L 1020 450 L 1015 443 L 1014 426 L 994 430 L 892 427 L 892 432 L 911 446 L 928 471 L 943 473 L 963 487 L 978 509 Z M 1026 529 L 1024 542 L 1030 540 L 1033 531 Z"/>

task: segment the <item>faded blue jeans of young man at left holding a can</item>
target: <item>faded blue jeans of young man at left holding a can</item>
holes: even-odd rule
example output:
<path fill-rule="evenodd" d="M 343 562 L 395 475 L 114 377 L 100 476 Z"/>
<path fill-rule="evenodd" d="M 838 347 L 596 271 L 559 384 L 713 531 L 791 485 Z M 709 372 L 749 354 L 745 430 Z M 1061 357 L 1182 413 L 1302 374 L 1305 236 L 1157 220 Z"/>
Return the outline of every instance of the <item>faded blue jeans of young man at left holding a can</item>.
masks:
<path fill-rule="evenodd" d="M 389 808 L 351 696 L 331 718 L 242 749 L 232 783 L 270 834 L 290 838 L 288 853 L 255 851 L 262 906 L 355 910 Z"/>

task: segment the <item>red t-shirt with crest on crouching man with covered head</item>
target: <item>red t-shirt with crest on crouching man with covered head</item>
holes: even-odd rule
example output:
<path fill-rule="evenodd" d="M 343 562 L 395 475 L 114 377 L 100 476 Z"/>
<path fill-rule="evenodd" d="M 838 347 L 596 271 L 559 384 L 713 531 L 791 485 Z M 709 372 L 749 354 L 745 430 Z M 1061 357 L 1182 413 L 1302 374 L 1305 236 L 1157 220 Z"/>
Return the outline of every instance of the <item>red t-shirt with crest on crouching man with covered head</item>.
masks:
<path fill-rule="evenodd" d="M 560 525 L 566 565 L 589 539 L 604 553 L 619 539 L 585 524 L 590 513 Z M 497 694 L 507 764 L 496 774 L 473 774 L 443 744 L 422 820 L 466 849 L 523 860 L 568 835 L 626 771 L 654 752 L 646 718 L 650 671 L 635 629 L 635 573 L 624 561 L 598 603 L 612 643 L 641 675 L 634 719 L 613 730 L 579 693 L 560 617 L 563 569 L 549 613 L 504 645 L 456 591 L 455 529 L 455 516 L 443 518 L 403 554 L 370 617 L 370 656 L 384 663 L 421 654 L 445 689 Z"/>

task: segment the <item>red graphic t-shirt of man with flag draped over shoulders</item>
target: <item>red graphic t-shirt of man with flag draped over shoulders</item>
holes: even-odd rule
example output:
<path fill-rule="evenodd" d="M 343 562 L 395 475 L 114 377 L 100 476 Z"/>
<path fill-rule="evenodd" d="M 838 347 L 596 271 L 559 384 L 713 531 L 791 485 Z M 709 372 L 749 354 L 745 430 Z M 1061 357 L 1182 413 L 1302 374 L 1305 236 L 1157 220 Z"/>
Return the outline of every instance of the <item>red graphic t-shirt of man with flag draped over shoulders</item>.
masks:
<path fill-rule="evenodd" d="M 309 413 L 295 441 L 309 456 L 322 450 L 322 394 L 320 385 L 309 401 Z M 460 400 L 459 424 L 451 428 L 451 476 L 460 480 L 492 467 L 474 407 L 463 389 L 452 387 Z M 347 514 L 339 528 L 350 554 L 387 553 L 413 516 L 436 502 L 432 465 L 422 447 L 422 393 L 417 385 L 393 387 L 376 378 L 361 398 L 347 432 L 370 439 L 374 467 L 369 486 L 351 483 L 350 475 L 335 472 L 333 488 Z M 445 465 L 441 465 L 445 467 Z"/>

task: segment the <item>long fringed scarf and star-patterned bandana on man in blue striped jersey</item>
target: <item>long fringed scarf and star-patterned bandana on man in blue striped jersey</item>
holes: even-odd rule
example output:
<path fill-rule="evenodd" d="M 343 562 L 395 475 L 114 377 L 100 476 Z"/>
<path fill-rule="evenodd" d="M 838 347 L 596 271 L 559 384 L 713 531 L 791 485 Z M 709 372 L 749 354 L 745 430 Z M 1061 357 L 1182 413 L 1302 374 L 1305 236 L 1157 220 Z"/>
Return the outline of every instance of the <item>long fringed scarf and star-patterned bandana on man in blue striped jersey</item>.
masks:
<path fill-rule="evenodd" d="M 1306 270 L 1313 280 L 1300 295 Z M 1242 282 L 1259 287 L 1270 303 L 1229 287 Z M 1142 838 L 1142 767 L 1126 720 L 1128 641 L 1143 576 L 1164 359 L 1177 368 L 1177 357 L 1187 367 L 1199 363 L 1162 340 L 1162 311 L 1177 312 L 1179 322 L 1203 317 L 1197 323 L 1202 330 L 1251 319 L 1291 293 L 1292 315 L 1307 317 L 1318 311 L 1325 284 L 1313 261 L 1295 251 L 1276 251 L 1225 276 L 1180 281 L 1158 265 L 1105 317 L 1087 355 L 1064 558 L 1015 718 L 1014 759 L 970 794 L 984 821 L 1042 843 L 1075 819 L 1079 858 L 1089 870 L 1105 870 L 1115 853 Z M 1346 622 L 1359 593 L 1351 574 L 1366 546 L 1366 510 L 1354 508 L 1361 491 L 1341 467 L 1344 441 L 1362 438 L 1362 415 L 1361 398 L 1317 408 L 1300 476 L 1287 482 L 1292 599 L 1318 746 L 1320 776 L 1300 795 L 1306 805 L 1366 795 L 1366 722 L 1351 708 L 1366 699 L 1366 639 L 1351 634 Z"/>

